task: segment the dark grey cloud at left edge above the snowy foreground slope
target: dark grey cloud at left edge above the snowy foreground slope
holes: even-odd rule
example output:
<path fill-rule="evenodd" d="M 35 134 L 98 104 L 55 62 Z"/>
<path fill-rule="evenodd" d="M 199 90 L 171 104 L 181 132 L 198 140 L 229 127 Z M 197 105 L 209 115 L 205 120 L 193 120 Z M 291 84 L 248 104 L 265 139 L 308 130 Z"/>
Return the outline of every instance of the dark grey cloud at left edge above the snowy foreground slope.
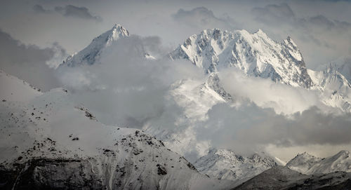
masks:
<path fill-rule="evenodd" d="M 65 53 L 57 43 L 44 49 L 34 45 L 27 46 L 0 31 L 0 44 L 0 69 L 4 72 L 17 76 L 41 90 L 59 86 L 54 77 L 54 70 L 46 65 L 56 54 L 56 50 Z"/>

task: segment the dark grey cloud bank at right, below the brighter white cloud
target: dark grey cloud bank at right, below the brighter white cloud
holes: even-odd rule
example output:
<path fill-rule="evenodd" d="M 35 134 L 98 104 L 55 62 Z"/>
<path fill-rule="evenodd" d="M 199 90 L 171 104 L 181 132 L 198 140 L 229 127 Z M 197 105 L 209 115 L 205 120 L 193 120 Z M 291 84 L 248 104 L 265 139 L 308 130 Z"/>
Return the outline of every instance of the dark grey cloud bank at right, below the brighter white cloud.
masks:
<path fill-rule="evenodd" d="M 350 114 L 324 114 L 317 107 L 286 118 L 251 103 L 239 109 L 217 104 L 208 111 L 208 121 L 199 123 L 197 133 L 204 140 L 211 140 L 215 147 L 243 153 L 258 151 L 268 144 L 277 147 L 340 145 L 351 143 L 350 118 Z"/>

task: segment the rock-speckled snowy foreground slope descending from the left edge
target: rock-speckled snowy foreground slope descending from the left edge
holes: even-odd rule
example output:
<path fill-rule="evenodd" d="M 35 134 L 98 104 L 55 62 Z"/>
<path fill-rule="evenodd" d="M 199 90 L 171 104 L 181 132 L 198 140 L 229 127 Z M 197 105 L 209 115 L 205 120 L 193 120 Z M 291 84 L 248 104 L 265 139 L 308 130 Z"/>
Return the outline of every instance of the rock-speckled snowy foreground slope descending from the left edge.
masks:
<path fill-rule="evenodd" d="M 99 123 L 62 88 L 0 72 L 1 189 L 227 189 L 139 130 Z M 2 80 L 4 79 L 4 80 Z M 30 95 L 27 99 L 17 93 Z"/>

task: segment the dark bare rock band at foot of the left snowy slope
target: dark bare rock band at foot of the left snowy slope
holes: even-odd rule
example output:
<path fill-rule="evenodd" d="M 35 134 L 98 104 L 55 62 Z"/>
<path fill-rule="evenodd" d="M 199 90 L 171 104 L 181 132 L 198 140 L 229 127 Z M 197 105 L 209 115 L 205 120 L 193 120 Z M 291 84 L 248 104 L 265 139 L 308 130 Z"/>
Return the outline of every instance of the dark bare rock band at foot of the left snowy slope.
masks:
<path fill-rule="evenodd" d="M 0 189 L 105 189 L 88 161 L 38 158 L 0 169 Z"/>

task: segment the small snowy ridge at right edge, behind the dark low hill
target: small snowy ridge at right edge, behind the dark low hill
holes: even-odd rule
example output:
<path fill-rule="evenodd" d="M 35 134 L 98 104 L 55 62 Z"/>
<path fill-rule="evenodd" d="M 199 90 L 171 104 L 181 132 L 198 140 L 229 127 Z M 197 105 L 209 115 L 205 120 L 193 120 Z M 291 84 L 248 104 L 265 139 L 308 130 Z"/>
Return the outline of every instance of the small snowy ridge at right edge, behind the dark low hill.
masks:
<path fill-rule="evenodd" d="M 317 158 L 310 154 L 298 154 L 286 163 L 286 167 L 307 175 L 330 172 L 351 172 L 351 154 L 349 151 L 340 151 L 328 158 Z"/>

